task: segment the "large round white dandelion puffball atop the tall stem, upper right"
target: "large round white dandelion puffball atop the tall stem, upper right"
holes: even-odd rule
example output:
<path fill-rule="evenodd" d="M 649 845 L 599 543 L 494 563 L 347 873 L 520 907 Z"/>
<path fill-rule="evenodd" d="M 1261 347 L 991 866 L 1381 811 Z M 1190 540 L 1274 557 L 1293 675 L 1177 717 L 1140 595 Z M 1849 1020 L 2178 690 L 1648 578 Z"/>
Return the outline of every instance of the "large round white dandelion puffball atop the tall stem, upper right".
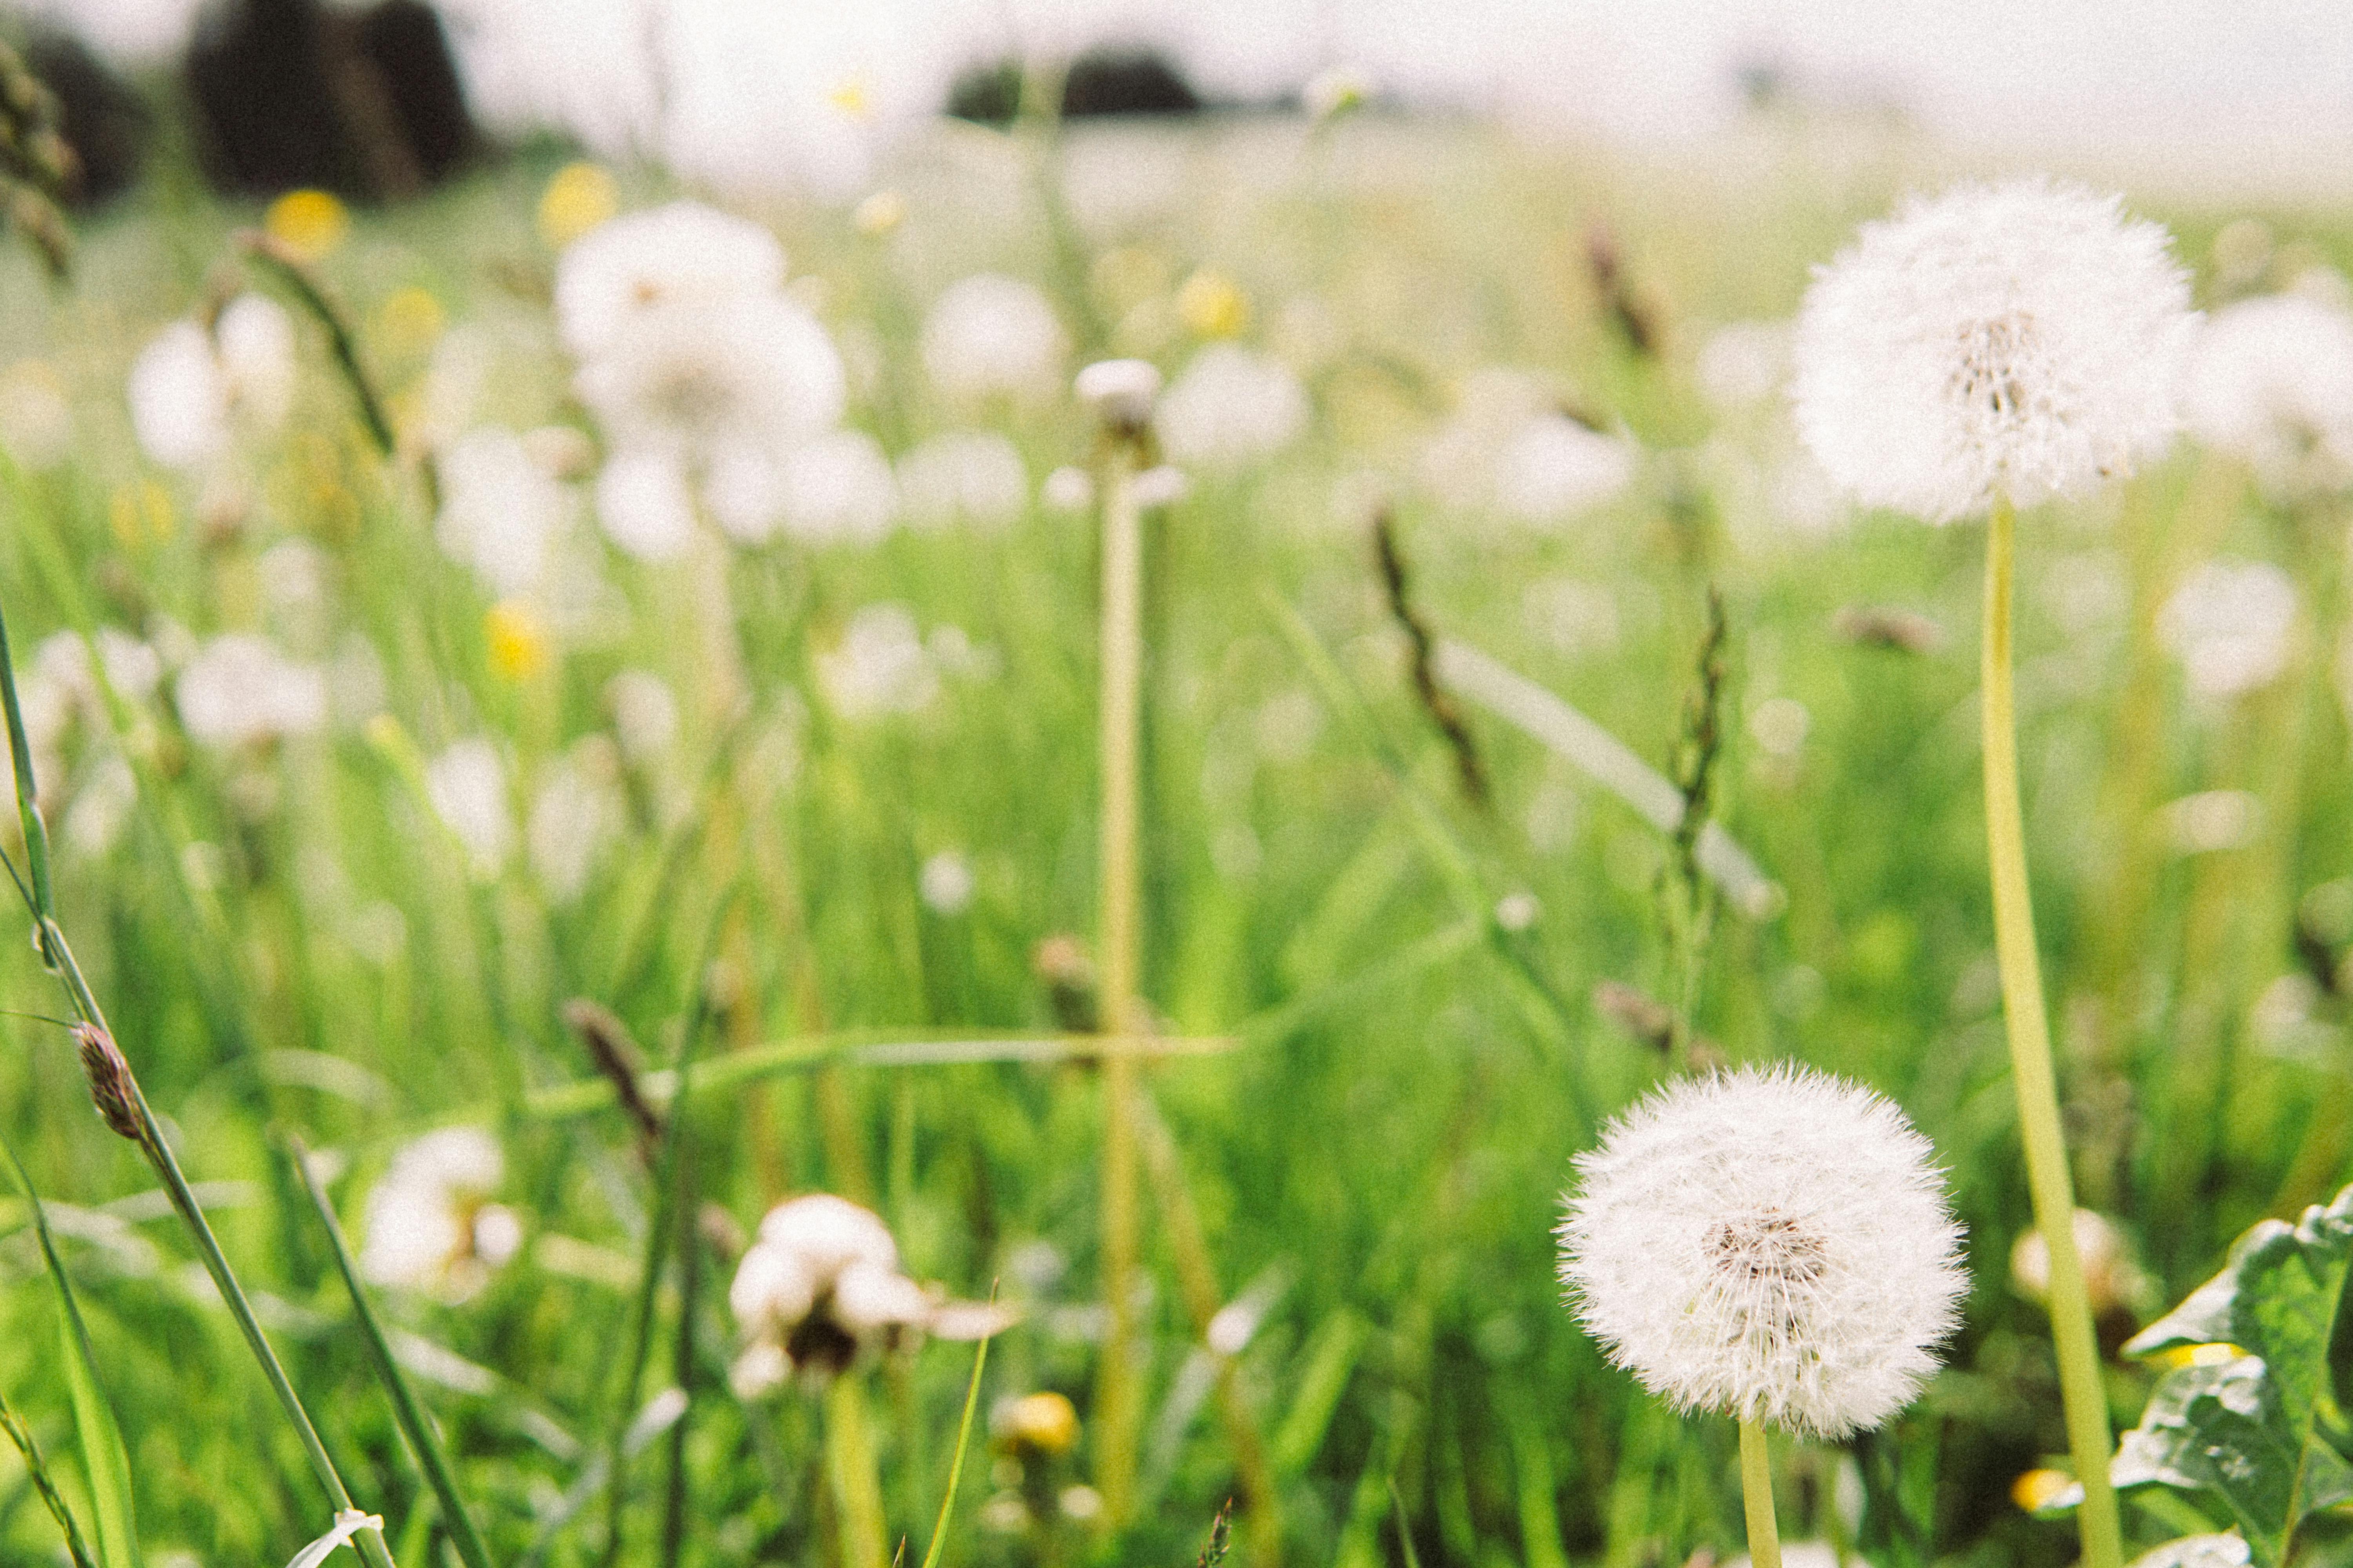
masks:
<path fill-rule="evenodd" d="M 2162 449 L 2195 329 L 2172 237 L 2115 197 L 1958 186 L 1817 268 L 1791 397 L 1840 489 L 1955 522 Z"/>

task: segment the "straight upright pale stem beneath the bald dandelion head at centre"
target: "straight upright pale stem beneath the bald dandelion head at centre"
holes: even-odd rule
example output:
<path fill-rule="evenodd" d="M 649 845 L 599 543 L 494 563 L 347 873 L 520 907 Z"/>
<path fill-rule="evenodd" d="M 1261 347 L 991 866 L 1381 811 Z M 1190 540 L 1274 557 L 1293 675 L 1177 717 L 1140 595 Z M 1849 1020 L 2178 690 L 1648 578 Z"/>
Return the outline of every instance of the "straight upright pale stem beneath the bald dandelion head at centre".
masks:
<path fill-rule="evenodd" d="M 1134 442 L 1113 440 L 1104 463 L 1104 708 L 1101 708 L 1101 961 L 1104 1032 L 1125 1037 L 1136 1013 L 1139 750 L 1144 703 L 1144 510 L 1134 494 Z M 1136 1272 L 1136 1065 L 1104 1053 L 1104 1338 L 1096 1389 L 1096 1479 L 1104 1521 L 1127 1521 L 1136 1481 L 1134 1354 Z"/>

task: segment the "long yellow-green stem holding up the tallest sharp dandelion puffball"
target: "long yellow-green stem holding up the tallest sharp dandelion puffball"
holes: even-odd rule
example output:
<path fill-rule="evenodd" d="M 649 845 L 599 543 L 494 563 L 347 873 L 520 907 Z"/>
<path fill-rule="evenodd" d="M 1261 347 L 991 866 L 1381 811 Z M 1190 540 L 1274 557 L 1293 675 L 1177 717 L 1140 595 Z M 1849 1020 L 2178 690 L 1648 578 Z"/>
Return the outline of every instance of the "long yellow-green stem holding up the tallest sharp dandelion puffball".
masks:
<path fill-rule="evenodd" d="M 2075 1528 L 2082 1568 L 2120 1568 L 2122 1528 L 2108 1486 L 2108 1396 L 2099 1385 L 2092 1338 L 2092 1298 L 2075 1255 L 2075 1192 L 2059 1131 L 2059 1084 L 2052 1070 L 2049 1020 L 2042 1004 L 2042 964 L 2035 957 L 2035 910 L 2026 886 L 2026 813 L 2019 806 L 2019 724 L 2009 677 L 2009 597 L 2017 512 L 1993 503 L 1986 527 L 1986 853 L 1993 865 L 1993 945 L 2002 966 L 2002 1020 L 2009 1027 L 2009 1072 L 2019 1091 L 2019 1135 L 2026 1143 L 2026 1185 L 2035 1227 L 2049 1248 L 2052 1345 L 2059 1352 L 2059 1396 L 2066 1406 L 2068 1453 L 2082 1483 Z"/>

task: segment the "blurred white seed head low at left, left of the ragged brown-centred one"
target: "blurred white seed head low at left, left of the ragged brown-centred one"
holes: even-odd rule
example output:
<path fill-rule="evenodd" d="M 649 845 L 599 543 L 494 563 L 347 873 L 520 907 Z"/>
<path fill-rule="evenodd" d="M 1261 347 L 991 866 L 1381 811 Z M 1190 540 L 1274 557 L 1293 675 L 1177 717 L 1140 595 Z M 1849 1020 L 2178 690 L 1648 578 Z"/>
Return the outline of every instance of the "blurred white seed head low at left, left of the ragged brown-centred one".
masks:
<path fill-rule="evenodd" d="M 506 1180 L 496 1138 L 445 1126 L 393 1157 L 367 1194 L 360 1276 L 464 1300 L 522 1248 L 522 1220 L 492 1204 Z"/>

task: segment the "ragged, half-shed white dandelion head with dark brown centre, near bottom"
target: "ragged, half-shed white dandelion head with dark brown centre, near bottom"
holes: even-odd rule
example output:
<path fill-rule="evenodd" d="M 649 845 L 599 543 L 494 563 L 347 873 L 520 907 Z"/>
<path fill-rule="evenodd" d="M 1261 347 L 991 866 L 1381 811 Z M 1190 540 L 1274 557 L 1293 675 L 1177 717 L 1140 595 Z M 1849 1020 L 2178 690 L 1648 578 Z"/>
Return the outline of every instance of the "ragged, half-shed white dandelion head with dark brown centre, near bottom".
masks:
<path fill-rule="evenodd" d="M 889 1227 L 847 1199 L 809 1194 L 779 1204 L 744 1251 L 727 1307 L 744 1331 L 729 1373 L 739 1399 L 758 1399 L 795 1371 L 835 1375 L 866 1349 L 896 1349 L 925 1333 L 981 1340 L 1012 1314 L 951 1302 L 899 1272 Z"/>

